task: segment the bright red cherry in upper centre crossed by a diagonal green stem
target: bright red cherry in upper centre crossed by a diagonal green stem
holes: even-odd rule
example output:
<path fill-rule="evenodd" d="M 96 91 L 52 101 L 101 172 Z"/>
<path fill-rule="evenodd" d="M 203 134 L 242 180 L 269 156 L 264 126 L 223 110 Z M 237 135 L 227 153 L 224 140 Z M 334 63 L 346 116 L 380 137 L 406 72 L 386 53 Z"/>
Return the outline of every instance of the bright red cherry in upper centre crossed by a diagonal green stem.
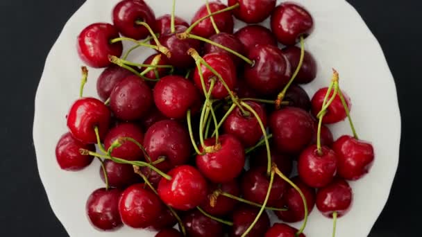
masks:
<path fill-rule="evenodd" d="M 236 85 L 236 68 L 235 64 L 233 64 L 233 60 L 226 53 L 208 53 L 203 57 L 203 60 L 210 65 L 217 73 L 221 75 L 224 82 L 230 90 Z M 205 67 L 205 65 L 201 64 L 201 71 L 203 74 L 203 80 L 205 82 L 205 91 L 210 90 L 211 80 L 214 78 L 216 80 L 215 85 L 211 91 L 211 95 L 213 98 L 222 99 L 228 96 L 228 91 L 226 87 L 224 87 L 223 83 L 217 76 L 215 76 L 210 69 Z M 203 87 L 201 82 L 201 76 L 199 75 L 199 69 L 196 68 L 193 76 L 193 80 L 195 82 L 196 87 L 203 93 Z"/>

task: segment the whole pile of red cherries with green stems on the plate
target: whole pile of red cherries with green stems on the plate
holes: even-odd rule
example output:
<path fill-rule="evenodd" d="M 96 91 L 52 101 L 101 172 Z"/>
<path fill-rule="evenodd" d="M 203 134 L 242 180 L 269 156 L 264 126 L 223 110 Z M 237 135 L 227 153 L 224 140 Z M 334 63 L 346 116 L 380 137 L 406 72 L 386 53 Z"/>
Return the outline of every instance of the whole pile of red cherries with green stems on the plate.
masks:
<path fill-rule="evenodd" d="M 175 6 L 156 18 L 143 0 L 123 0 L 113 24 L 78 36 L 83 62 L 104 68 L 100 99 L 83 97 L 83 67 L 56 158 L 71 171 L 101 161 L 105 188 L 86 203 L 92 225 L 160 237 L 305 236 L 316 205 L 334 218 L 334 235 L 353 199 L 347 181 L 368 173 L 374 154 L 357 137 L 337 71 L 312 99 L 300 86 L 316 78 L 304 49 L 310 13 L 276 0 L 206 1 L 189 24 Z M 233 33 L 233 16 L 251 25 Z M 267 17 L 271 30 L 256 25 Z M 123 41 L 133 42 L 125 53 Z M 143 47 L 157 52 L 127 60 Z M 353 136 L 334 141 L 326 125 L 346 118 Z M 270 226 L 269 211 L 283 223 Z"/>

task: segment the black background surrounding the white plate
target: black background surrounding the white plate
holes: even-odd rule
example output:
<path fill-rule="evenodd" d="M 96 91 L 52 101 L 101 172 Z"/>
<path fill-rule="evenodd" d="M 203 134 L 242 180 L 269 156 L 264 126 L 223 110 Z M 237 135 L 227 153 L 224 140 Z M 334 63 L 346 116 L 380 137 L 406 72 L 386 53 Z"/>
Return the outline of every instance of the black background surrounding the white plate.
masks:
<path fill-rule="evenodd" d="M 398 172 L 387 206 L 370 236 L 421 236 L 421 1 L 349 2 L 385 51 L 402 116 Z M 38 175 L 32 139 L 33 104 L 47 53 L 82 3 L 0 1 L 0 236 L 67 236 L 49 207 Z M 380 89 L 382 85 L 373 88 L 373 96 Z"/>

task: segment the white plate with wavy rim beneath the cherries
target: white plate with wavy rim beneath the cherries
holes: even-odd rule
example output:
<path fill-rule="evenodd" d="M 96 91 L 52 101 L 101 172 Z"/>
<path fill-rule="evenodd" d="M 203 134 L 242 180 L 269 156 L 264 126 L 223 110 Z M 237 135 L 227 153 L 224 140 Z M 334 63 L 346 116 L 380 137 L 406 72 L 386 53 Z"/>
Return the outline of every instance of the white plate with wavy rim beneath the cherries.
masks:
<path fill-rule="evenodd" d="M 58 168 L 54 149 L 67 131 L 65 116 L 78 97 L 80 67 L 76 36 L 94 22 L 110 22 L 118 0 L 88 0 L 69 19 L 51 49 L 35 98 L 33 139 L 37 164 L 51 208 L 70 236 L 153 236 L 149 231 L 124 227 L 117 232 L 100 232 L 85 216 L 88 195 L 101 186 L 99 163 L 78 173 Z M 171 0 L 147 1 L 156 16 L 171 11 Z M 398 164 L 400 112 L 396 87 L 380 45 L 360 15 L 344 0 L 297 0 L 314 17 L 315 30 L 305 41 L 306 49 L 318 62 L 318 78 L 305 89 L 312 96 L 328 85 L 331 68 L 339 71 L 341 87 L 352 98 L 352 116 L 360 138 L 371 141 L 375 164 L 369 175 L 352 182 L 354 202 L 351 211 L 338 221 L 337 236 L 367 236 L 387 201 Z M 176 14 L 190 20 L 204 1 L 178 0 Z M 268 21 L 264 22 L 268 26 Z M 239 27 L 239 24 L 237 24 Z M 127 45 L 126 45 L 127 46 Z M 127 49 L 127 48 L 126 48 Z M 139 52 L 139 51 L 138 51 Z M 151 51 L 144 51 L 145 58 Z M 96 78 L 101 70 L 90 69 L 86 96 L 96 96 Z M 350 134 L 348 123 L 332 126 L 335 137 Z M 332 220 L 314 209 L 305 229 L 310 237 L 330 236 Z M 299 227 L 300 223 L 295 226 Z"/>

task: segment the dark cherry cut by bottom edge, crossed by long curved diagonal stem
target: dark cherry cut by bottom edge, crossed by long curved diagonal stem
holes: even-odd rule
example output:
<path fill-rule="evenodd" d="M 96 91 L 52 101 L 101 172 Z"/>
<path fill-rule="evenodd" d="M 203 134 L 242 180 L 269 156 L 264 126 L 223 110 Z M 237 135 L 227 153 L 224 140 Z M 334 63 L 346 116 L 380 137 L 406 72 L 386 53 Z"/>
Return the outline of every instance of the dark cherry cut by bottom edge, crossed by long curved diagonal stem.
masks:
<path fill-rule="evenodd" d="M 258 215 L 259 209 L 252 207 L 239 207 L 233 213 L 233 227 L 230 231 L 230 237 L 239 237 L 244 234 L 246 229 L 252 224 Z M 267 212 L 263 212 L 258 222 L 253 226 L 251 231 L 248 233 L 248 237 L 260 237 L 264 236 L 267 229 L 269 229 L 269 217 Z"/>

